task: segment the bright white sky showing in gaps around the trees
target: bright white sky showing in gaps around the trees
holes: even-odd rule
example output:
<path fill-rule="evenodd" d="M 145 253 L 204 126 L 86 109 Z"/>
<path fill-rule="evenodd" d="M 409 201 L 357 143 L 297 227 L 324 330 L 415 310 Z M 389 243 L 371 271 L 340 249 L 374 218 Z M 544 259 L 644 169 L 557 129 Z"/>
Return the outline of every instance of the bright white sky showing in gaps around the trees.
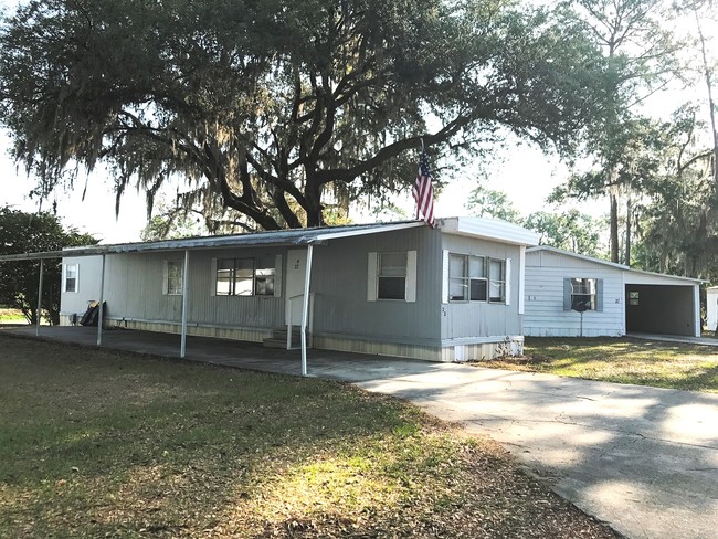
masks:
<path fill-rule="evenodd" d="M 0 0 L 0 10 L 15 3 L 15 0 Z M 686 96 L 682 95 L 679 99 L 685 98 Z M 654 105 L 653 108 L 662 110 L 673 108 L 665 106 L 665 103 L 678 101 L 675 95 L 657 96 L 656 99 L 658 106 Z M 36 211 L 38 200 L 28 197 L 34 187 L 34 180 L 12 162 L 8 156 L 9 148 L 7 133 L 0 131 L 0 204 L 9 204 L 28 212 Z M 546 156 L 540 149 L 528 144 L 509 142 L 508 147 L 499 152 L 499 159 L 487 167 L 474 163 L 467 166 L 461 175 L 444 178 L 448 182 L 436 198 L 435 215 L 446 218 L 467 214 L 467 195 L 479 183 L 485 188 L 506 192 L 524 215 L 548 210 L 550 208 L 545 202 L 547 195 L 556 186 L 566 181 L 569 173 L 568 168 L 556 156 Z M 84 188 L 85 175 L 81 173 L 74 189 L 57 192 L 51 200 L 42 202 L 42 208 L 51 209 L 56 200 L 57 215 L 65 226 L 91 233 L 102 239 L 103 243 L 139 241 L 147 216 L 144 193 L 134 190 L 126 192 L 122 199 L 119 214 L 115 215 L 115 194 L 109 175 L 102 169 L 93 172 L 87 178 L 83 200 Z M 173 199 L 173 193 L 169 194 L 169 199 Z M 398 203 L 412 215 L 413 201 L 409 193 L 398 199 Z M 602 200 L 589 201 L 581 208 L 581 211 L 592 215 L 603 214 L 606 210 L 608 204 Z M 355 221 L 368 219 L 357 213 L 350 216 Z"/>

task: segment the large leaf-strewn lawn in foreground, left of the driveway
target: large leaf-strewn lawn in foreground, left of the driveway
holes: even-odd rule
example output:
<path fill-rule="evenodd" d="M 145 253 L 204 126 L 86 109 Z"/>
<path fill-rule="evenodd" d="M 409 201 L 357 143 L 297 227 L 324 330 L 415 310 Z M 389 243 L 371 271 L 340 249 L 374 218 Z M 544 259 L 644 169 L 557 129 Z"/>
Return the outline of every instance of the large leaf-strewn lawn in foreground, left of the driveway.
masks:
<path fill-rule="evenodd" d="M 0 537 L 611 538 L 395 399 L 0 335 Z"/>

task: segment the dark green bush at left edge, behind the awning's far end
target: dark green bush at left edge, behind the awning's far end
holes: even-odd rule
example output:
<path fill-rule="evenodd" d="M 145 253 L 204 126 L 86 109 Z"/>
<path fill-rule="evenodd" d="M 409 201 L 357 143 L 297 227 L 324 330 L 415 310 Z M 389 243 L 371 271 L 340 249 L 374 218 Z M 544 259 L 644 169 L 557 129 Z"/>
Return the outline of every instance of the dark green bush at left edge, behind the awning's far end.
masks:
<path fill-rule="evenodd" d="M 93 245 L 88 234 L 62 226 L 51 213 L 24 213 L 0 208 L 0 254 L 61 251 L 63 247 Z M 62 267 L 59 260 L 43 263 L 42 308 L 50 324 L 60 323 Z M 22 310 L 30 324 L 38 320 L 40 261 L 0 262 L 0 305 Z"/>

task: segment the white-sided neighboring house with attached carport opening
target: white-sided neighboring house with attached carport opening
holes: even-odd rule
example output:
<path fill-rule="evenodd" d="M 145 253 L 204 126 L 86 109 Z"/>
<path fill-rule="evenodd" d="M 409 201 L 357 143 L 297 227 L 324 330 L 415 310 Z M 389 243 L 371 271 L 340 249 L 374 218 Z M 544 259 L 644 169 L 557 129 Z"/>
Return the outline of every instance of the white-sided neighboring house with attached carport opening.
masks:
<path fill-rule="evenodd" d="M 524 335 L 623 336 L 650 332 L 700 337 L 703 281 L 631 270 L 539 246 L 526 251 Z M 572 304 L 583 304 L 581 315 Z"/>

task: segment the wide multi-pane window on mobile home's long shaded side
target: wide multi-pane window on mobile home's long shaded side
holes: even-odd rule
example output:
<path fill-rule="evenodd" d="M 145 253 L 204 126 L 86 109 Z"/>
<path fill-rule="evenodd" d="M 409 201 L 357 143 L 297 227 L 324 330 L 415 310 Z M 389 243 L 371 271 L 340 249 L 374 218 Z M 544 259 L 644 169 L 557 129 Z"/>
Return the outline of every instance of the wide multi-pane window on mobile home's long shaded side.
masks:
<path fill-rule="evenodd" d="M 273 296 L 276 267 L 255 258 L 219 258 L 214 292 L 218 296 Z"/>

